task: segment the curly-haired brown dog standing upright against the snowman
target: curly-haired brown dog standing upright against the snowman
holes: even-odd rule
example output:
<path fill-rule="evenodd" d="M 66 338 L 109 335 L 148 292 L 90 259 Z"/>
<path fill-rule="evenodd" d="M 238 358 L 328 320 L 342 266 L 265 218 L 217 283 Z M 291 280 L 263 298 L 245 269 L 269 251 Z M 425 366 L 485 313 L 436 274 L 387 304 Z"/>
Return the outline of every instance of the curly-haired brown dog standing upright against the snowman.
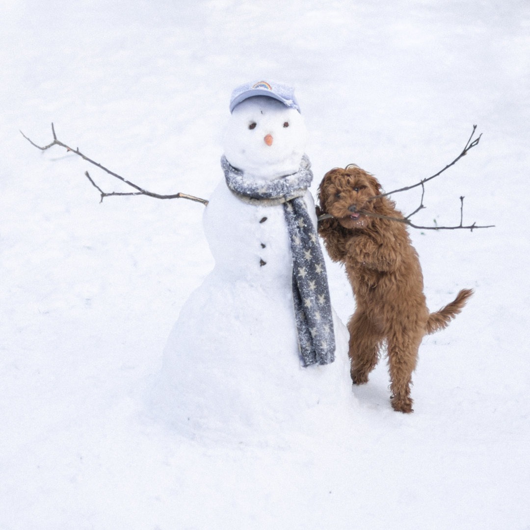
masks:
<path fill-rule="evenodd" d="M 348 323 L 351 379 L 368 381 L 386 341 L 392 407 L 412 412 L 411 374 L 423 335 L 444 329 L 462 310 L 471 289 L 430 313 L 423 295 L 418 254 L 405 225 L 370 216 L 403 218 L 393 201 L 381 195 L 373 175 L 351 164 L 325 174 L 319 188 L 319 234 L 333 261 L 345 263 L 357 302 Z"/>

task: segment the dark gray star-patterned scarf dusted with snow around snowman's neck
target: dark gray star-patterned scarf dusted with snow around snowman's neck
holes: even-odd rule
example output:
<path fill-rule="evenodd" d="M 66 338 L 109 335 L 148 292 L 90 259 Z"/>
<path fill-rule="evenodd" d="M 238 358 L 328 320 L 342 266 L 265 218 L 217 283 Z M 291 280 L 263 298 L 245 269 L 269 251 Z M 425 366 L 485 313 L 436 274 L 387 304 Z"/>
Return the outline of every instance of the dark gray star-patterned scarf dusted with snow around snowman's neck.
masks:
<path fill-rule="evenodd" d="M 304 155 L 296 173 L 271 181 L 246 179 L 224 156 L 221 166 L 228 188 L 238 199 L 254 205 L 284 205 L 293 255 L 293 299 L 302 364 L 332 363 L 335 335 L 328 278 L 319 238 L 303 199 L 313 180 L 309 159 Z"/>

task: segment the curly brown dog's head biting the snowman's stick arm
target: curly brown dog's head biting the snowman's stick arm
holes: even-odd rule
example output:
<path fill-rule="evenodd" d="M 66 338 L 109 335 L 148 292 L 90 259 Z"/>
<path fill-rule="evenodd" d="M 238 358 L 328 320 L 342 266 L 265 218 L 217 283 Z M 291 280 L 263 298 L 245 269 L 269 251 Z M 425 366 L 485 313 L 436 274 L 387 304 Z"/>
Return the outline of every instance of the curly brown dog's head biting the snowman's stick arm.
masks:
<path fill-rule="evenodd" d="M 330 214 L 345 228 L 364 228 L 373 218 L 363 212 L 376 213 L 382 199 L 381 184 L 355 164 L 345 169 L 335 167 L 324 175 L 319 187 L 320 211 Z"/>

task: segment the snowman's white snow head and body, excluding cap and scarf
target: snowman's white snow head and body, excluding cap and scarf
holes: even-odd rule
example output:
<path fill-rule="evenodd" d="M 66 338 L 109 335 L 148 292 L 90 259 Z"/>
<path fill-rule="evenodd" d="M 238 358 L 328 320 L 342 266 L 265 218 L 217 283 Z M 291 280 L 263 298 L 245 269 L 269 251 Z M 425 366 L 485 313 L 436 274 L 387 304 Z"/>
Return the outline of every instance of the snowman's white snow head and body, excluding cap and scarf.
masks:
<path fill-rule="evenodd" d="M 304 144 L 296 110 L 252 98 L 234 109 L 225 156 L 269 180 L 298 170 Z M 310 192 L 304 200 L 316 226 Z M 223 179 L 204 229 L 215 267 L 182 307 L 164 352 L 161 392 L 171 419 L 190 432 L 240 431 L 342 410 L 351 399 L 348 333 L 336 316 L 335 361 L 302 367 L 299 358 L 284 205 L 248 204 Z"/>

